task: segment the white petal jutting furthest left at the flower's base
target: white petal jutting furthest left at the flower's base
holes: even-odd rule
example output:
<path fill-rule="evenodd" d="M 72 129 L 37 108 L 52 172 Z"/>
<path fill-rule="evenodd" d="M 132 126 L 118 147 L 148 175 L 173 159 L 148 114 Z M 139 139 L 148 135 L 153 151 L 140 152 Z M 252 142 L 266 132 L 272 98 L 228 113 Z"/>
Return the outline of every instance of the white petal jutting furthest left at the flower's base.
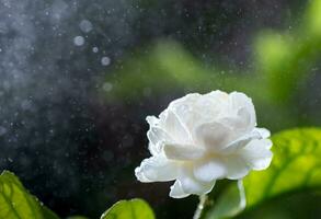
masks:
<path fill-rule="evenodd" d="M 139 168 L 135 169 L 136 177 L 144 183 L 167 182 L 177 177 L 179 166 L 175 162 L 162 157 L 145 159 Z"/>

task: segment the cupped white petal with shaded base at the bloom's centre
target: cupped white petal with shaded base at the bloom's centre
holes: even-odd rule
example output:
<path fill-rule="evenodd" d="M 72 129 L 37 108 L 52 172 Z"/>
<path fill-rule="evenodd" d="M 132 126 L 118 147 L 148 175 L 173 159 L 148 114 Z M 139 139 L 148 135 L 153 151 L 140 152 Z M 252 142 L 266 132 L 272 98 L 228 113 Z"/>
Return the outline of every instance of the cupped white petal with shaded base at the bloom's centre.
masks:
<path fill-rule="evenodd" d="M 198 126 L 195 136 L 198 143 L 211 151 L 220 151 L 233 140 L 232 130 L 216 122 Z"/>

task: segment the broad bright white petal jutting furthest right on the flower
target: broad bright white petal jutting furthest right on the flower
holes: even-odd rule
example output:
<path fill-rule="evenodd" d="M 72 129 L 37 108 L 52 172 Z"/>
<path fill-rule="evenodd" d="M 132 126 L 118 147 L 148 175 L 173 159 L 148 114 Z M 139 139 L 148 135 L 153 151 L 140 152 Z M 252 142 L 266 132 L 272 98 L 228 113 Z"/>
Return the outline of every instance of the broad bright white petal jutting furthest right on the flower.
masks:
<path fill-rule="evenodd" d="M 272 141 L 270 139 L 252 140 L 240 154 L 253 170 L 265 170 L 268 168 L 273 153 L 271 152 Z"/>

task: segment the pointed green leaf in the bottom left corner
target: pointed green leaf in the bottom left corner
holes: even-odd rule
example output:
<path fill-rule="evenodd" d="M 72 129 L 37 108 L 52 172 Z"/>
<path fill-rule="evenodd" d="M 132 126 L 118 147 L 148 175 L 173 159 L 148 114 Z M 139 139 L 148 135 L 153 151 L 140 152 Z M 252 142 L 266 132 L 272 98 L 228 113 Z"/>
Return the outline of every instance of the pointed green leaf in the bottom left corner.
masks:
<path fill-rule="evenodd" d="M 58 216 L 39 203 L 9 171 L 0 175 L 0 219 L 58 219 Z"/>

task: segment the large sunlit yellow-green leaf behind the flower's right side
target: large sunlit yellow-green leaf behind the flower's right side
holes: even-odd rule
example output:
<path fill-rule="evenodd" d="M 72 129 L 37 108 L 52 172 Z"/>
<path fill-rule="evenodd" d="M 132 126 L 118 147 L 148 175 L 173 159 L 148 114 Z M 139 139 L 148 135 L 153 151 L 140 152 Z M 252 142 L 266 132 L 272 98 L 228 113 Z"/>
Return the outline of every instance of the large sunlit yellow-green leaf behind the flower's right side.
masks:
<path fill-rule="evenodd" d="M 273 153 L 271 166 L 265 171 L 253 171 L 243 180 L 247 207 L 250 211 L 259 205 L 283 195 L 321 188 L 321 129 L 301 128 L 282 131 L 272 137 Z M 227 188 L 214 209 L 207 211 L 211 219 L 233 216 L 241 199 L 236 186 Z M 227 200 L 234 203 L 222 211 Z M 239 203 L 240 204 L 240 203 Z M 230 215 L 228 215 L 230 211 Z M 228 212 L 228 214 L 227 214 Z"/>

